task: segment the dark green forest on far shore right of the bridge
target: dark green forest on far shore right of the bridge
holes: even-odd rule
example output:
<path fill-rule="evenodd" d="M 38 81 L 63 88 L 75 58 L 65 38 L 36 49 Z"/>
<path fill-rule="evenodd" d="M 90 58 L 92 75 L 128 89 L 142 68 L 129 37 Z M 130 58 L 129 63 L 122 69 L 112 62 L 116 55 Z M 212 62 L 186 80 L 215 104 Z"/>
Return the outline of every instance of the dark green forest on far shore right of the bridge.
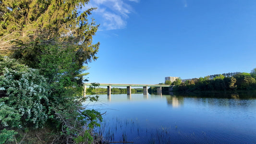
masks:
<path fill-rule="evenodd" d="M 230 72 L 194 78 L 184 83 L 177 79 L 174 91 L 256 90 L 256 68 L 250 73 Z"/>

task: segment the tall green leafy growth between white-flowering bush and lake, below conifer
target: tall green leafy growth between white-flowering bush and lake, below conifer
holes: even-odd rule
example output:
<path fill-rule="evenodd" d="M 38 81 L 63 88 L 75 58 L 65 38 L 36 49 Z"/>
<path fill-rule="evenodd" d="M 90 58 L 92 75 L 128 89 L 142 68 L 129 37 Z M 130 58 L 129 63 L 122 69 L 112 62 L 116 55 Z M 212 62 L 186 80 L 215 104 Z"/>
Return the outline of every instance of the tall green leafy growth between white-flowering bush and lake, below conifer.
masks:
<path fill-rule="evenodd" d="M 61 136 L 56 138 L 57 143 L 76 141 L 76 138 L 86 139 L 87 142 L 88 135 L 85 133 L 90 132 L 93 137 L 94 127 L 99 126 L 98 120 L 102 120 L 99 112 L 83 108 L 85 100 L 97 101 L 98 96 L 83 97 L 83 76 L 87 73 L 83 73 L 86 67 L 76 62 L 76 55 L 72 48 L 45 46 L 42 54 L 37 56 L 38 61 L 34 63 L 34 67 L 47 78 L 49 84 L 48 122 L 61 131 Z M 96 86 L 98 84 L 93 84 L 86 92 Z M 86 132 L 85 125 L 88 128 Z"/>

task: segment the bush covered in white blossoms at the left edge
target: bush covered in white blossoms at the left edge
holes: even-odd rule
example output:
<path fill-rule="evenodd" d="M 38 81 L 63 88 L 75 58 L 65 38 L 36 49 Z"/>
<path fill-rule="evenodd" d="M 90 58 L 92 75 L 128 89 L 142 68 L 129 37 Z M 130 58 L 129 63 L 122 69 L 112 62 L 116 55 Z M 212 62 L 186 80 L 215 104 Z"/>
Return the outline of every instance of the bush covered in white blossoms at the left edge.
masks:
<path fill-rule="evenodd" d="M 48 93 L 46 78 L 38 70 L 0 58 L 0 127 L 43 127 L 48 118 Z"/>

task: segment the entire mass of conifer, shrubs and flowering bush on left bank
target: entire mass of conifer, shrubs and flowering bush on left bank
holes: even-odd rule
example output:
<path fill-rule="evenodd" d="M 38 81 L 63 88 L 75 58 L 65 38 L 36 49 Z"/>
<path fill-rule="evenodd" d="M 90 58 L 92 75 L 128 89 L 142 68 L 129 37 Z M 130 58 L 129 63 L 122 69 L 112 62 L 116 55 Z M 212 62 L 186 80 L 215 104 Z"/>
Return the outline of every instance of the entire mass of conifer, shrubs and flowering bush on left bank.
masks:
<path fill-rule="evenodd" d="M 36 129 L 47 121 L 54 143 L 91 142 L 102 118 L 83 107 L 84 65 L 97 60 L 99 47 L 92 40 L 99 25 L 87 19 L 95 8 L 82 10 L 88 2 L 0 0 L 0 51 L 28 66 L 0 58 L 0 104 L 7 109 L 0 111 L 1 129 Z"/>

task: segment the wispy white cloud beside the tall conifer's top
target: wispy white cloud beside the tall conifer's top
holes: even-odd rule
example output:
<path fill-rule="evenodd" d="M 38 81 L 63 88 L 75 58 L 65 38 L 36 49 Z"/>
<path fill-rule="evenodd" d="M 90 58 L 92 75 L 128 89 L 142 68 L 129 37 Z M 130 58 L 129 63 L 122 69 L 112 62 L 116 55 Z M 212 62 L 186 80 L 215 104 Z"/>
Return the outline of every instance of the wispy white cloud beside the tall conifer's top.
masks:
<path fill-rule="evenodd" d="M 129 0 L 139 2 L 139 0 Z M 133 12 L 133 8 L 126 0 L 91 0 L 86 8 L 97 7 L 97 14 L 100 19 L 101 29 L 113 30 L 122 29 L 126 26 L 126 19 Z M 98 20 L 97 20 L 98 21 Z"/>

